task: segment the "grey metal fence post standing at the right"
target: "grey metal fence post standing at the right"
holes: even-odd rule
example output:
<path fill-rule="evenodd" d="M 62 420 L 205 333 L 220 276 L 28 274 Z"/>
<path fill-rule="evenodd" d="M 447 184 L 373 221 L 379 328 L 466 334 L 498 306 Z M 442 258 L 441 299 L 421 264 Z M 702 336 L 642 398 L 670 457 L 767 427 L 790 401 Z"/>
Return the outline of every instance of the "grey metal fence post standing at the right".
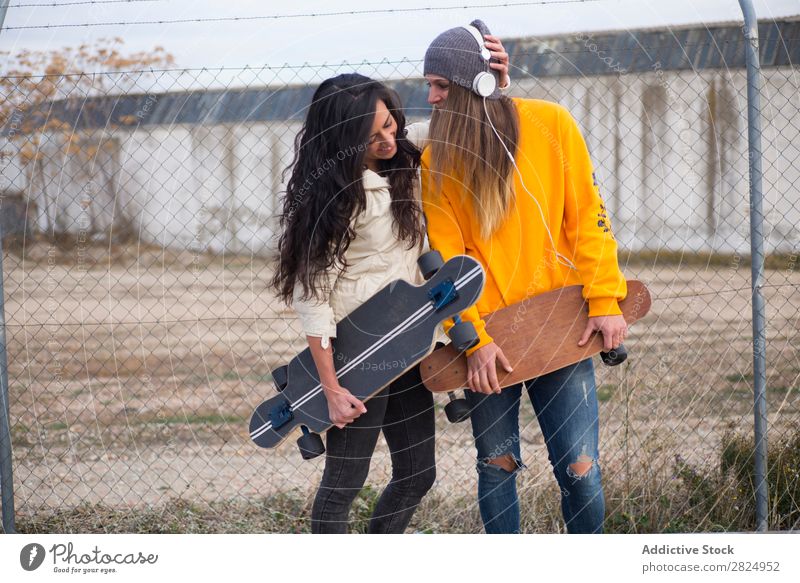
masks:
<path fill-rule="evenodd" d="M 753 290 L 753 404 L 757 530 L 767 525 L 767 363 L 764 315 L 764 212 L 761 190 L 761 65 L 758 20 L 751 0 L 739 0 L 744 15 L 747 62 L 747 140 L 750 166 L 750 252 Z"/>

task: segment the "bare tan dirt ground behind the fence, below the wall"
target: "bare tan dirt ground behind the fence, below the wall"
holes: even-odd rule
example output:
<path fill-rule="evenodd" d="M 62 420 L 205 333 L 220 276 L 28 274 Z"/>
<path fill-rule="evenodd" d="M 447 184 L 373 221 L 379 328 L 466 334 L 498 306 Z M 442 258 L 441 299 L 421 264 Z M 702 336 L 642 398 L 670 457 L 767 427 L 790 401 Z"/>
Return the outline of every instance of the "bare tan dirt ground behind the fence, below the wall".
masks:
<path fill-rule="evenodd" d="M 248 438 L 272 396 L 269 371 L 303 346 L 298 322 L 267 291 L 268 263 L 249 257 L 123 249 L 83 256 L 40 244 L 5 258 L 14 485 L 20 513 L 103 503 L 157 505 L 309 491 L 322 458 L 294 440 L 274 451 Z M 726 431 L 752 431 L 750 271 L 629 265 L 651 313 L 631 329 L 630 360 L 595 360 L 605 480 L 676 456 L 714 466 Z M 766 274 L 768 420 L 800 421 L 800 273 Z M 437 397 L 437 409 L 445 404 Z M 552 487 L 529 403 L 521 413 L 526 484 Z M 475 489 L 469 424 L 437 415 L 438 479 Z M 369 482 L 388 480 L 381 440 Z"/>

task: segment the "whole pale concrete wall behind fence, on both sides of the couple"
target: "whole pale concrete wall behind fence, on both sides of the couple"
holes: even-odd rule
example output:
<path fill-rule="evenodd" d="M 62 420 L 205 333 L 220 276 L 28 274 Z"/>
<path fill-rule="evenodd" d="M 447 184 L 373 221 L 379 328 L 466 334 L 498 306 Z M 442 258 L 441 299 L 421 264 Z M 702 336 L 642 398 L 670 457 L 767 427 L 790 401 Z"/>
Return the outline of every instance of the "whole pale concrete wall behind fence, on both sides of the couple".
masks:
<path fill-rule="evenodd" d="M 512 95 L 558 101 L 575 115 L 624 248 L 743 254 L 745 81 L 741 70 L 518 78 Z M 764 70 L 770 251 L 795 250 L 800 240 L 799 99 L 792 71 Z M 17 173 L 26 186 L 19 176 L 4 180 L 36 201 L 40 228 L 75 231 L 91 211 L 97 231 L 124 220 L 148 243 L 268 254 L 280 174 L 299 128 L 264 122 L 119 129 L 115 150 L 89 162 L 60 154 L 63 144 L 53 137 L 36 171 Z"/>

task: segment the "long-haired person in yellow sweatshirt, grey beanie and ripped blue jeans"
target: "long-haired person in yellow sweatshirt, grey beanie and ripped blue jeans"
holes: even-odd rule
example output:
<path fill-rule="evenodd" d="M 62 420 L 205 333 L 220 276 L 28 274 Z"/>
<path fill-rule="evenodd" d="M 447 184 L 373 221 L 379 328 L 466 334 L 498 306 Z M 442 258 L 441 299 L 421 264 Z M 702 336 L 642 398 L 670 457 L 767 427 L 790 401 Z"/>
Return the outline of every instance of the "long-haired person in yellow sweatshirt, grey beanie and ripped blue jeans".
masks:
<path fill-rule="evenodd" d="M 562 493 L 570 533 L 602 532 L 598 406 L 591 359 L 500 391 L 510 370 L 483 317 L 542 292 L 582 284 L 592 333 L 605 350 L 627 333 L 618 300 L 625 279 L 592 163 L 569 112 L 547 101 L 509 99 L 482 50 L 480 20 L 445 31 L 425 55 L 433 105 L 423 153 L 422 199 L 431 248 L 467 253 L 486 269 L 477 305 L 463 316 L 480 343 L 468 352 L 468 400 L 478 456 L 478 500 L 487 533 L 518 532 L 519 404 L 533 403 Z M 535 347 L 534 347 L 535 349 Z"/>

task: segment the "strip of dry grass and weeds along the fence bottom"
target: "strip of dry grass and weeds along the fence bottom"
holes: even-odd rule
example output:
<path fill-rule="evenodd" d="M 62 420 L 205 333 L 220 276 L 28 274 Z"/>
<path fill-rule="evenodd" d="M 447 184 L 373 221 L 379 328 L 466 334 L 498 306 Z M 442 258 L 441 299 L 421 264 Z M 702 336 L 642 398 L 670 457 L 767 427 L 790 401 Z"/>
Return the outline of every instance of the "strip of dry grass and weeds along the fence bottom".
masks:
<path fill-rule="evenodd" d="M 633 484 L 606 484 L 608 533 L 732 532 L 756 527 L 752 473 L 752 440 L 728 435 L 720 466 L 702 470 L 676 459 L 668 472 L 641 467 Z M 773 530 L 800 527 L 800 428 L 770 448 L 769 524 Z M 522 531 L 563 532 L 559 496 L 537 485 L 530 475 L 520 484 Z M 366 486 L 351 509 L 351 532 L 366 532 L 379 496 Z M 82 504 L 53 512 L 21 515 L 23 533 L 304 533 L 309 532 L 312 498 L 299 491 L 198 503 L 176 498 L 157 506 L 111 508 Z M 436 490 L 414 515 L 408 532 L 481 532 L 475 500 Z"/>

